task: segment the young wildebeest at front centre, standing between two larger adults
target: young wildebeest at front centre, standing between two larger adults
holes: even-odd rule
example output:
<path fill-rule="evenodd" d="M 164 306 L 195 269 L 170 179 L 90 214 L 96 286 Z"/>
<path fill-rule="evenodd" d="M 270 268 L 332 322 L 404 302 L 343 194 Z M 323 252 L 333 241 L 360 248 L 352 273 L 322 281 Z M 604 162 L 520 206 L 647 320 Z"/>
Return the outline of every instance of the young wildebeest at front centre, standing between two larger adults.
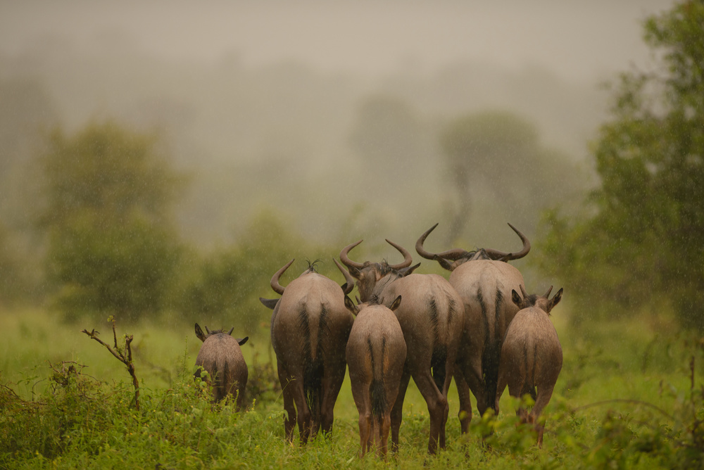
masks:
<path fill-rule="evenodd" d="M 401 296 L 391 307 L 369 303 L 357 306 L 345 298 L 345 305 L 356 315 L 346 357 L 352 396 L 359 412 L 361 457 L 371 450 L 374 440 L 379 457 L 386 459 L 391 407 L 396 402 L 406 362 L 406 341 L 394 315 L 400 303 Z"/>

